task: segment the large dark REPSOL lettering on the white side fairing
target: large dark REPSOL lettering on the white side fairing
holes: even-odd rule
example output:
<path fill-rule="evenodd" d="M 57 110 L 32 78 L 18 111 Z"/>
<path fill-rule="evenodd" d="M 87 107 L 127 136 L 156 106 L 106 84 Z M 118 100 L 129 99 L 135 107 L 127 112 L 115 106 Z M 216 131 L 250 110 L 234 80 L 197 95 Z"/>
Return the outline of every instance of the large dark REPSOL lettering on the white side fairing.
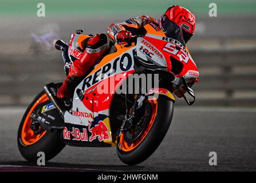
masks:
<path fill-rule="evenodd" d="M 132 63 L 133 57 L 129 53 L 124 53 L 120 57 L 117 57 L 114 61 L 107 63 L 99 70 L 95 71 L 92 75 L 86 77 L 82 83 L 82 90 L 85 89 L 85 86 L 88 88 L 95 85 L 102 79 L 105 79 L 105 76 L 110 77 L 116 73 L 123 73 L 130 70 Z"/>

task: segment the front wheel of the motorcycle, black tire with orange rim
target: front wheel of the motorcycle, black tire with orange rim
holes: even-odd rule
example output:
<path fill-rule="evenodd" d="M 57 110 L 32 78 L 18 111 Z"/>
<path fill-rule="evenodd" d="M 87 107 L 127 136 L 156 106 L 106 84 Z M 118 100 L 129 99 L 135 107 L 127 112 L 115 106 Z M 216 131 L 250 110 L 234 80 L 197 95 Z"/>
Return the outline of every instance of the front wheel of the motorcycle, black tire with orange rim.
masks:
<path fill-rule="evenodd" d="M 161 144 L 171 125 L 174 112 L 174 101 L 166 96 L 159 95 L 154 100 L 147 100 L 144 107 L 142 127 L 135 140 L 128 142 L 127 136 L 131 134 L 120 133 L 117 141 L 117 155 L 120 160 L 128 165 L 136 165 L 145 161 Z"/>

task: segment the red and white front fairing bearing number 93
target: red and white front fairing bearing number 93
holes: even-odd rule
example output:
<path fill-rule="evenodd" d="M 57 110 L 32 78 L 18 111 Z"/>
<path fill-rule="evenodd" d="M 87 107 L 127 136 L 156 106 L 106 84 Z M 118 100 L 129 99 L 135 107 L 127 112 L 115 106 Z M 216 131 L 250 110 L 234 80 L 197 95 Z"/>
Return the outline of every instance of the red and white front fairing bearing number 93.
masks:
<path fill-rule="evenodd" d="M 142 55 L 141 57 L 148 58 L 148 55 L 151 55 L 151 59 L 157 65 L 166 66 L 167 68 L 163 70 L 177 78 L 184 77 L 186 80 L 192 80 L 199 77 L 198 68 L 187 48 L 176 39 L 146 34 L 145 37 L 138 39 L 137 50 L 138 55 Z M 145 53 L 146 51 L 143 53 L 140 50 L 147 50 L 148 53 Z M 177 70 L 175 68 L 177 64 L 174 64 L 177 61 L 181 63 L 179 73 L 174 71 Z"/>

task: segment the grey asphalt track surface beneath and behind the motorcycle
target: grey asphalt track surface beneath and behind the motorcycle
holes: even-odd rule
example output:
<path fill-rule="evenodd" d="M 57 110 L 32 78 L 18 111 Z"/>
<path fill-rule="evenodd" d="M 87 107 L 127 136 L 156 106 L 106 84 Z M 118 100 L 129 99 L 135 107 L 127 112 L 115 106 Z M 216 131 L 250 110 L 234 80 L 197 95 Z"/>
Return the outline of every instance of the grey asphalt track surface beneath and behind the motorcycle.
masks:
<path fill-rule="evenodd" d="M 66 146 L 46 166 L 26 162 L 17 147 L 25 108 L 0 109 L 0 171 L 255 171 L 256 110 L 175 108 L 166 138 L 148 160 L 124 165 L 116 148 Z M 208 164 L 210 152 L 217 165 Z"/>

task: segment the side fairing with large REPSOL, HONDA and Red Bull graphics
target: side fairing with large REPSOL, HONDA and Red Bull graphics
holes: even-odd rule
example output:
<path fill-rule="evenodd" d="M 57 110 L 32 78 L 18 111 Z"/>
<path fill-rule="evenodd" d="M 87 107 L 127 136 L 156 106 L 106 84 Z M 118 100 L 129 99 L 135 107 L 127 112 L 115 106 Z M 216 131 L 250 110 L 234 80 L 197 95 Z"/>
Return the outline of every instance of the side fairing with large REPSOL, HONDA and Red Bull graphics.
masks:
<path fill-rule="evenodd" d="M 107 55 L 76 87 L 73 114 L 64 116 L 66 128 L 63 138 L 66 141 L 71 140 L 68 134 L 73 133 L 82 137 L 74 140 L 82 141 L 84 144 L 105 142 L 113 145 L 109 109 L 116 88 L 128 74 L 134 73 L 133 49 L 135 47 Z"/>

